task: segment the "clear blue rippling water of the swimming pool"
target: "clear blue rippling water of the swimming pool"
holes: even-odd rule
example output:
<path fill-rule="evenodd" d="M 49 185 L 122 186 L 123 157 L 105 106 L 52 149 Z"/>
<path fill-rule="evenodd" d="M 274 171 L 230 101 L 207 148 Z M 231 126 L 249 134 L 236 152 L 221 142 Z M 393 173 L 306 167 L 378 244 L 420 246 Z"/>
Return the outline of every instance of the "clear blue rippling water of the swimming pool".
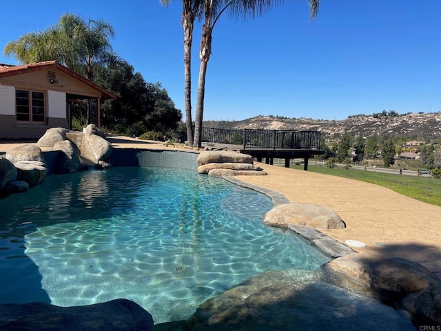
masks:
<path fill-rule="evenodd" d="M 316 270 L 327 257 L 269 228 L 263 194 L 190 170 L 52 175 L 0 199 L 0 303 L 139 303 L 155 323 L 260 272 Z"/>

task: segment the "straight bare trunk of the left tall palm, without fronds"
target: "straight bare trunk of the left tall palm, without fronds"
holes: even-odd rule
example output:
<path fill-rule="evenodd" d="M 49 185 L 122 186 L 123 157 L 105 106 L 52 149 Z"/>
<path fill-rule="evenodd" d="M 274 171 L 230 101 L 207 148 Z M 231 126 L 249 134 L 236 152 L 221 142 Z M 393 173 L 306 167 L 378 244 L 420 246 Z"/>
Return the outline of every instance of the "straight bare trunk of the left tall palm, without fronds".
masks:
<path fill-rule="evenodd" d="M 184 29 L 184 99 L 185 99 L 185 126 L 187 127 L 187 144 L 193 146 L 193 121 L 192 121 L 192 41 L 194 16 L 183 10 Z"/>

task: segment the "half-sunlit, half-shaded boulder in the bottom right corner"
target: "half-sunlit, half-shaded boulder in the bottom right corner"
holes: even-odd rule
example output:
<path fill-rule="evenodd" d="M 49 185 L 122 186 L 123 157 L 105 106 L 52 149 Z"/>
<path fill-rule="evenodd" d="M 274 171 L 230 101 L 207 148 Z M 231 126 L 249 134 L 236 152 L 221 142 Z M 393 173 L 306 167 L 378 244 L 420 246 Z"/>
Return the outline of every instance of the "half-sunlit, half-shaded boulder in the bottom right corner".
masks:
<path fill-rule="evenodd" d="M 441 279 L 420 263 L 351 254 L 322 270 L 338 285 L 405 309 L 417 325 L 441 325 Z"/>

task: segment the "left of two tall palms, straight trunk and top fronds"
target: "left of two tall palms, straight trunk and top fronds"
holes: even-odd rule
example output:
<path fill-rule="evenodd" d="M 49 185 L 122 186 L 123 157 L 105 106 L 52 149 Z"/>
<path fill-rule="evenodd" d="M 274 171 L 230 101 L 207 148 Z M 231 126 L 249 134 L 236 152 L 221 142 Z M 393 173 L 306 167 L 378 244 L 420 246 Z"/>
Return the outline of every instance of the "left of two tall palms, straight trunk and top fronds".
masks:
<path fill-rule="evenodd" d="M 168 5 L 172 0 L 161 0 Z M 203 1 L 182 0 L 182 26 L 184 30 L 184 100 L 185 100 L 185 126 L 187 127 L 187 143 L 193 146 L 193 121 L 192 121 L 192 43 L 194 20 L 201 17 Z"/>

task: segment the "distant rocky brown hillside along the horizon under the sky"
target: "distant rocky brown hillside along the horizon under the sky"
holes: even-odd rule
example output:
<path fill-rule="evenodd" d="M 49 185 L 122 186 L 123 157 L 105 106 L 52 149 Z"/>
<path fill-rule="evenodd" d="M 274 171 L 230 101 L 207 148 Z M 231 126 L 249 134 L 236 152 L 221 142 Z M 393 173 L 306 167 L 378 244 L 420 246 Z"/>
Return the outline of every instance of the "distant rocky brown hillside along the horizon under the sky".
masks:
<path fill-rule="evenodd" d="M 243 121 L 205 121 L 203 126 L 225 129 L 317 130 L 331 136 L 340 136 L 347 130 L 353 137 L 358 134 L 362 134 L 363 137 L 377 134 L 425 140 L 441 138 L 441 112 L 400 115 L 392 111 L 354 115 L 342 121 L 258 116 Z"/>

